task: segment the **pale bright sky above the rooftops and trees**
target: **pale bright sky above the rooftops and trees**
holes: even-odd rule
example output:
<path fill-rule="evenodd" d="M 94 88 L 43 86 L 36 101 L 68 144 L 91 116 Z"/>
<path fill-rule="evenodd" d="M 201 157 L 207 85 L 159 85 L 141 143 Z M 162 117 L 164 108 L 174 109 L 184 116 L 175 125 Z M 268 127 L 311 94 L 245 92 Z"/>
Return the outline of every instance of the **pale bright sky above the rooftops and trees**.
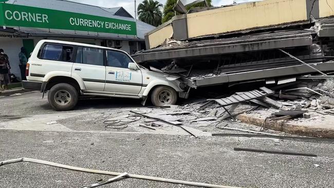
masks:
<path fill-rule="evenodd" d="M 134 0 L 68 0 L 68 1 L 78 2 L 78 3 L 88 4 L 88 5 L 95 5 L 99 7 L 106 7 L 106 8 L 123 7 L 132 16 L 135 15 Z M 259 0 L 235 0 L 236 3 L 245 3 L 245 2 L 253 2 L 253 1 L 259 1 Z M 137 7 L 138 7 L 138 4 L 141 2 L 142 0 L 137 0 L 137 3 L 136 3 Z M 166 0 L 158 0 L 158 2 L 164 5 L 166 3 Z M 185 2 L 185 4 L 187 4 L 188 2 L 192 2 L 192 0 L 182 0 L 182 2 Z M 233 3 L 233 0 L 212 0 L 213 6 L 229 5 L 232 3 Z"/>

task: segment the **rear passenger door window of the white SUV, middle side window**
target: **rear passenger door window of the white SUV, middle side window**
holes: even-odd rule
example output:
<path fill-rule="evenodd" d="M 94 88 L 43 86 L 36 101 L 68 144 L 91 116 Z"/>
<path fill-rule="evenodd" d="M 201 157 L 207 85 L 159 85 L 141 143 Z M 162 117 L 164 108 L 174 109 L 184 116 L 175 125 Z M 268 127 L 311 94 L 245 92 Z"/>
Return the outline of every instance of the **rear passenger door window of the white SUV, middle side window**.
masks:
<path fill-rule="evenodd" d="M 76 63 L 104 66 L 102 49 L 78 47 Z"/>

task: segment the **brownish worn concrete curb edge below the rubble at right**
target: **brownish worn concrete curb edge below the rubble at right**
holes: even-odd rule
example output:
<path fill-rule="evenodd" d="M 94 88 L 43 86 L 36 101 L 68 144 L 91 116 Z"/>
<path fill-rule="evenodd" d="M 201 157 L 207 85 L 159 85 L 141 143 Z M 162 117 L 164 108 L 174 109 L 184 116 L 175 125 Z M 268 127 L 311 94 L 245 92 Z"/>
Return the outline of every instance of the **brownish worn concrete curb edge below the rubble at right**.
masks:
<path fill-rule="evenodd" d="M 241 114 L 237 116 L 237 119 L 243 123 L 248 123 L 256 126 L 262 126 L 265 119 L 256 118 L 251 115 Z M 334 138 L 334 128 L 321 128 L 321 127 L 311 127 L 296 125 L 291 123 L 286 123 L 283 121 L 267 121 L 264 128 L 269 128 L 273 130 L 283 131 L 285 133 L 301 136 L 312 136 L 312 137 L 322 137 L 322 138 Z"/>

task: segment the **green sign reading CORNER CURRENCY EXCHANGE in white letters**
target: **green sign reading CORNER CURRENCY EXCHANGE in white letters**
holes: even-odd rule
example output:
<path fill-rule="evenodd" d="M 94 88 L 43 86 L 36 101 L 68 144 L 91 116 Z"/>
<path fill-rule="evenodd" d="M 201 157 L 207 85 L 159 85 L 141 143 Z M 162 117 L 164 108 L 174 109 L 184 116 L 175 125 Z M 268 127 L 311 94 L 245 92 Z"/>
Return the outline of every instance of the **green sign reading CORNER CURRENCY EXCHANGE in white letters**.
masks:
<path fill-rule="evenodd" d="M 137 35 L 133 21 L 5 3 L 0 25 Z"/>

